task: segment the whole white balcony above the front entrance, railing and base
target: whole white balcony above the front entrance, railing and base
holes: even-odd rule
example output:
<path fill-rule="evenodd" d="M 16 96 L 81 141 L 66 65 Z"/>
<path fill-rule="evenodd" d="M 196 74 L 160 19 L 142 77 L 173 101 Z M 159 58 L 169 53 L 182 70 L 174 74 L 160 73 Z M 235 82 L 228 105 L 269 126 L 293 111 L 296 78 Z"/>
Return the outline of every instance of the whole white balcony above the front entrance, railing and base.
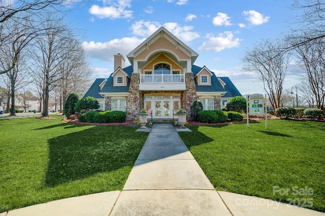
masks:
<path fill-rule="evenodd" d="M 185 75 L 183 74 L 140 74 L 140 90 L 185 90 Z"/>

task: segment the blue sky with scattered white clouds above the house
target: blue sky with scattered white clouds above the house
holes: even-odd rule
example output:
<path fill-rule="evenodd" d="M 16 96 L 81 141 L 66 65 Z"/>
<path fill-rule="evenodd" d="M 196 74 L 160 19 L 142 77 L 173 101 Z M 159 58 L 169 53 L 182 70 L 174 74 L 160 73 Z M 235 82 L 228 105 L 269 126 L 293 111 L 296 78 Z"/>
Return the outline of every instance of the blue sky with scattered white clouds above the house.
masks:
<path fill-rule="evenodd" d="M 263 39 L 280 37 L 288 29 L 289 0 L 101 0 L 82 1 L 66 17 L 82 29 L 92 78 L 113 73 L 114 54 L 126 55 L 160 26 L 199 54 L 217 77 L 229 77 L 242 94 L 262 93 L 254 72 L 242 70 L 246 49 Z M 295 12 L 296 13 L 296 12 Z M 284 89 L 299 84 L 287 71 Z"/>

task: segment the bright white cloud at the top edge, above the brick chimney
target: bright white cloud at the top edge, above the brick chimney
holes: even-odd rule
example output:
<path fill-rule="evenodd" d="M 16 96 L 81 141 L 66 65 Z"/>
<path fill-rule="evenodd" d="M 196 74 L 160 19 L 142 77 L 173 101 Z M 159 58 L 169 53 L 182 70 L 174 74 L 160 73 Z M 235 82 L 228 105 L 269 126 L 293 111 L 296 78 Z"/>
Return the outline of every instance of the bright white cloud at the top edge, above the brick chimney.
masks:
<path fill-rule="evenodd" d="M 109 1 L 110 6 L 105 6 L 106 1 L 104 0 L 103 7 L 93 5 L 89 9 L 89 13 L 101 19 L 132 18 L 133 11 L 125 9 L 131 7 L 131 1 L 132 0 Z"/>

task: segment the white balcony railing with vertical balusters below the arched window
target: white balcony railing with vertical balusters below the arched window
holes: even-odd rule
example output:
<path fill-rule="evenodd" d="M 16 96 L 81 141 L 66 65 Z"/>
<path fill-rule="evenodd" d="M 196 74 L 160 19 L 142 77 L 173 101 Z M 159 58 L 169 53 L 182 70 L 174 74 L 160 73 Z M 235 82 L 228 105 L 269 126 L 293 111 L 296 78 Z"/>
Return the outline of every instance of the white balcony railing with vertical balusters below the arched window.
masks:
<path fill-rule="evenodd" d="M 183 74 L 159 74 L 159 75 L 140 74 L 140 83 L 141 84 L 185 83 L 185 75 Z"/>

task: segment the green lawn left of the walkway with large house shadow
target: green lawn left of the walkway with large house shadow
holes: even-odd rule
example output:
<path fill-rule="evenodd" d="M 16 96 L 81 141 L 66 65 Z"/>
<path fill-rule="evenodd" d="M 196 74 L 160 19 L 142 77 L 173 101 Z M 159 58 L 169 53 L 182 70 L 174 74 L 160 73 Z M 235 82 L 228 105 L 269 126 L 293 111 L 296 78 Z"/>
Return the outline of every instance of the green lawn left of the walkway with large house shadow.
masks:
<path fill-rule="evenodd" d="M 121 190 L 148 133 L 58 120 L 0 120 L 0 212 Z"/>

